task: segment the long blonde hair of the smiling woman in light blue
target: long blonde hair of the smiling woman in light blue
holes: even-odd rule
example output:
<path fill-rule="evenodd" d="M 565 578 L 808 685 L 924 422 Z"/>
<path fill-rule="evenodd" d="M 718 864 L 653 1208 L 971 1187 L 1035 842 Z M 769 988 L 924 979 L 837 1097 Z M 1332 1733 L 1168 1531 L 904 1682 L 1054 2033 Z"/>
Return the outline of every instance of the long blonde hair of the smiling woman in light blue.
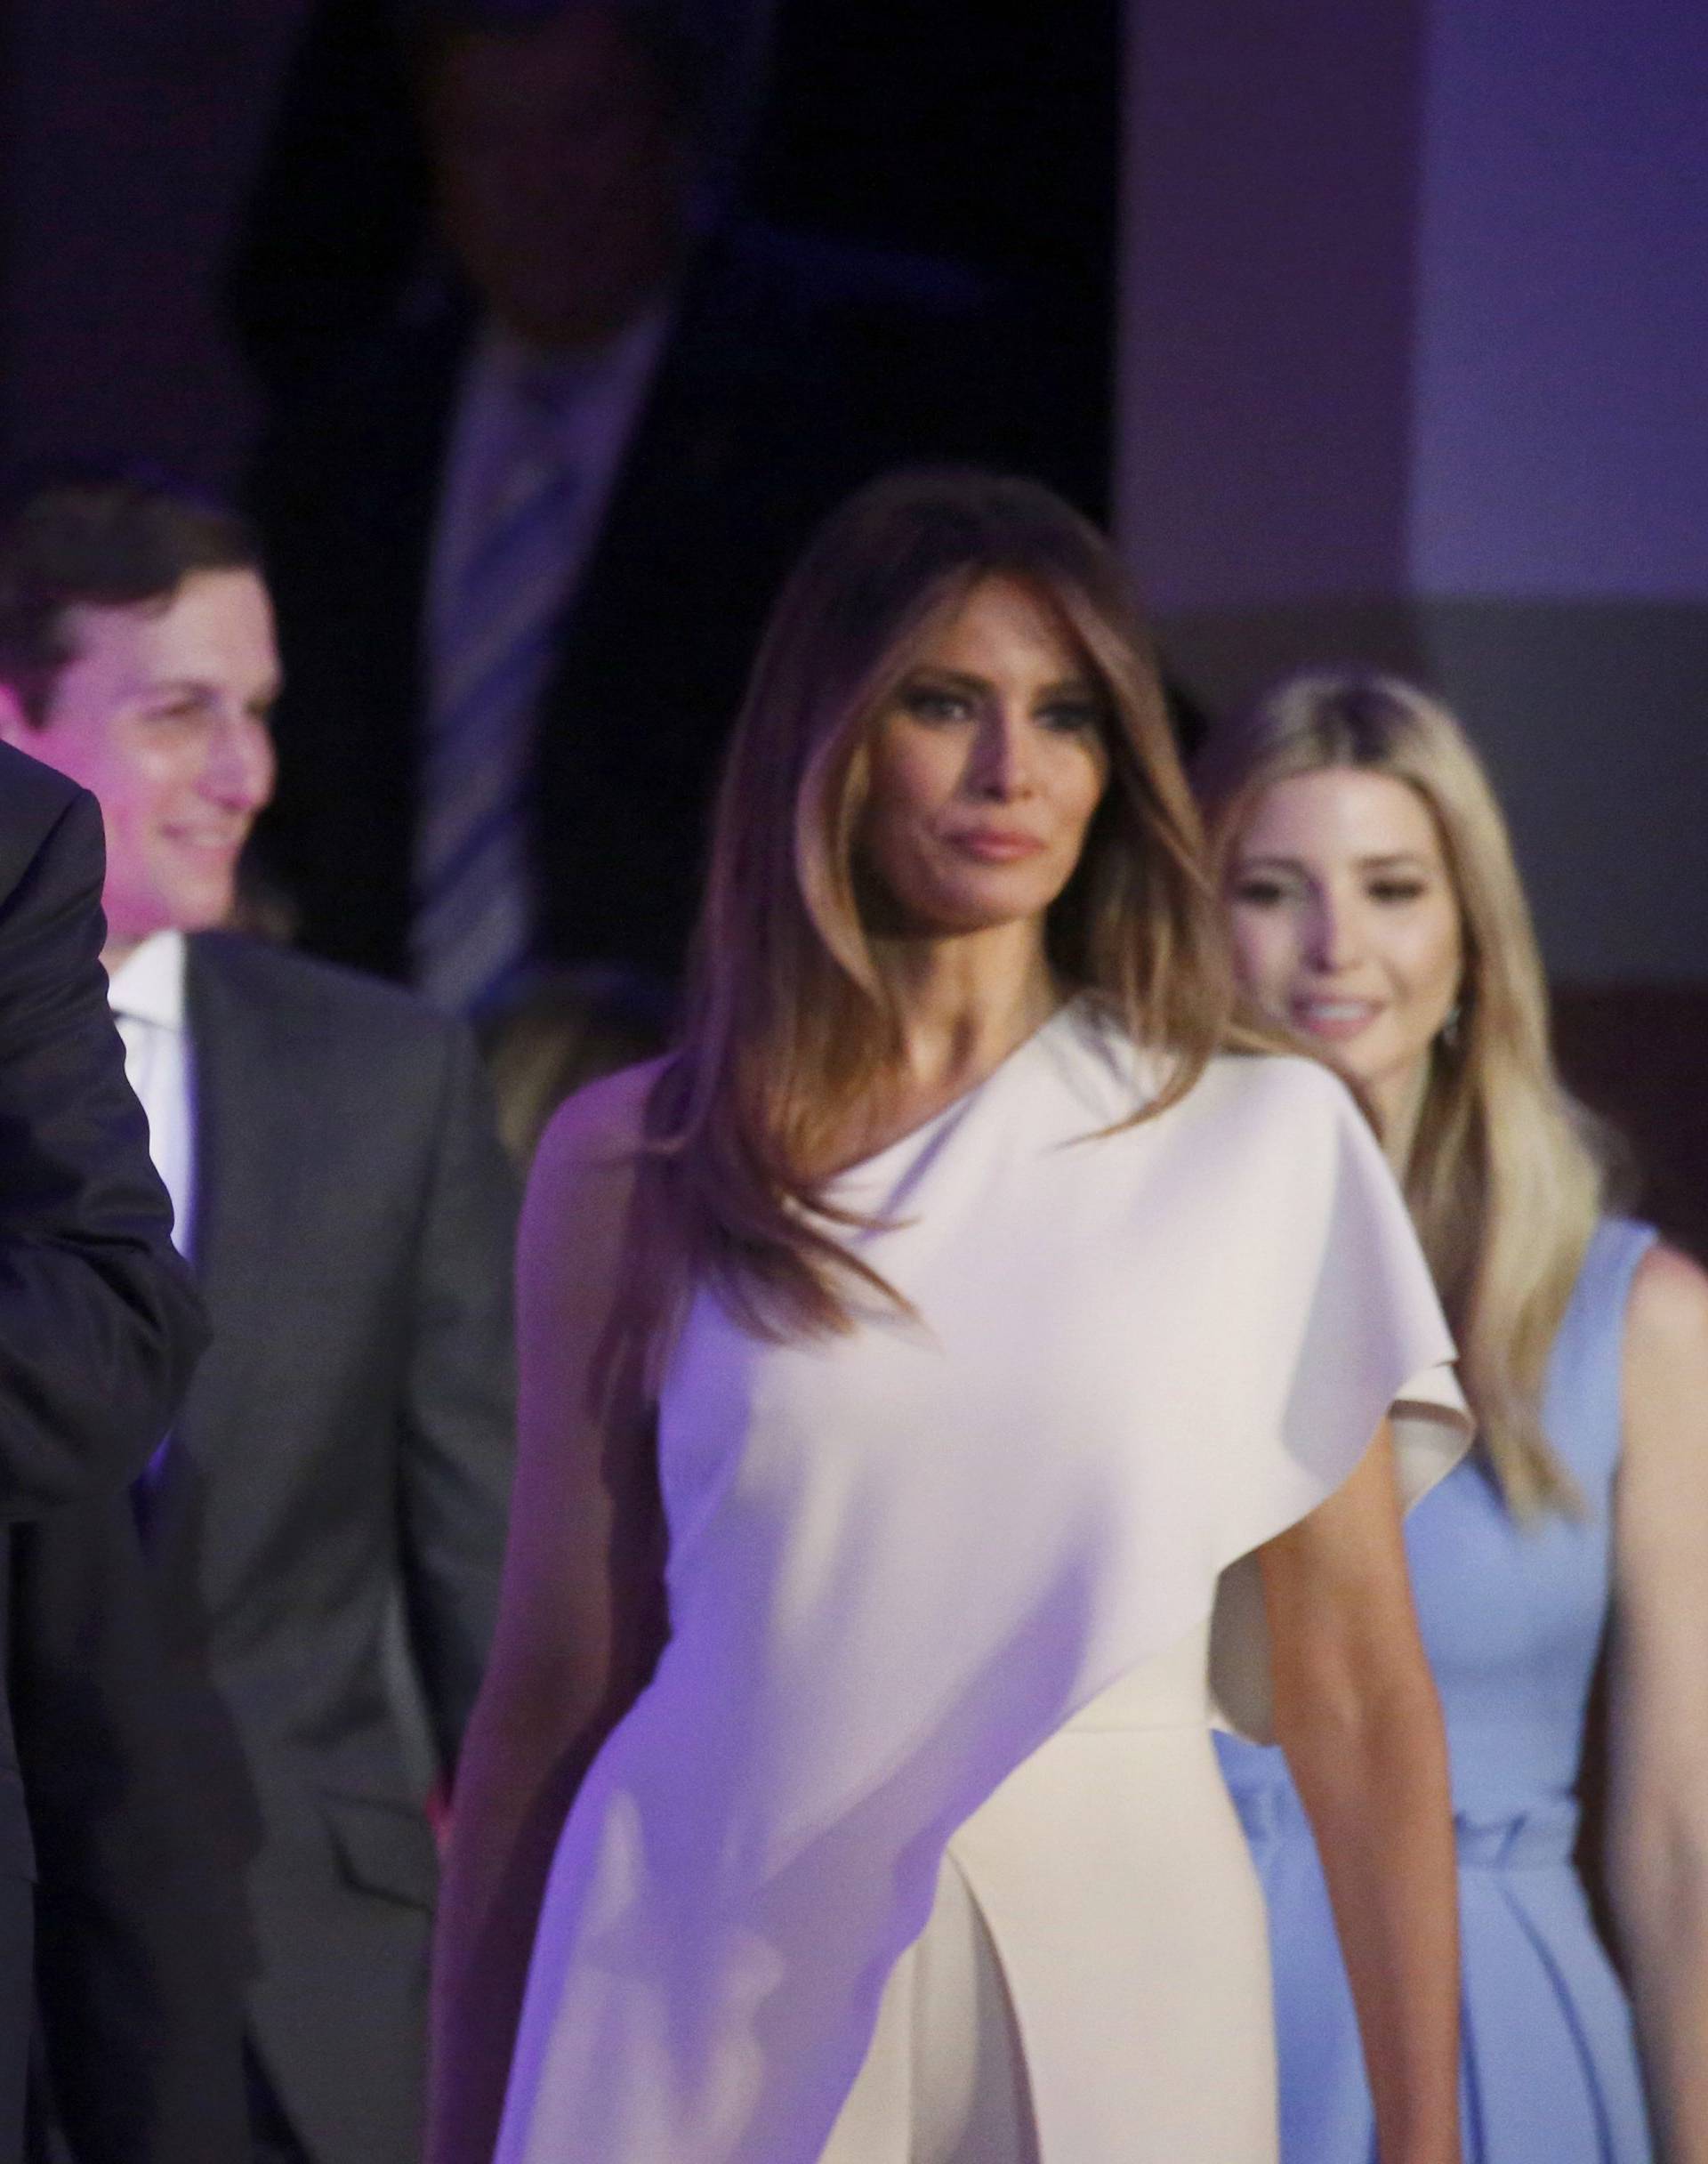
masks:
<path fill-rule="evenodd" d="M 1422 796 L 1459 902 L 1459 1013 L 1431 1054 L 1405 1192 L 1509 1508 L 1576 1513 L 1541 1426 L 1548 1352 L 1604 1208 L 1589 1117 L 1548 1043 L 1548 989 L 1507 822 L 1453 714 L 1396 677 L 1288 677 L 1206 747 L 1195 781 L 1219 883 L 1258 796 L 1353 766 Z"/>

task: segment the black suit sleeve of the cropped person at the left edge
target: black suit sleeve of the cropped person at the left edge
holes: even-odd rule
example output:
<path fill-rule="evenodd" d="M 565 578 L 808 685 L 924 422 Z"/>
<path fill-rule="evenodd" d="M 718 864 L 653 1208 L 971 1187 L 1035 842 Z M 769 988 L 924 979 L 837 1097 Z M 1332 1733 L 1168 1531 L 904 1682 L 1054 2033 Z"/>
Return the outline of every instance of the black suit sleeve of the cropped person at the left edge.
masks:
<path fill-rule="evenodd" d="M 0 1515 L 119 1487 L 171 1424 L 201 1309 L 100 965 L 78 792 L 0 898 Z"/>

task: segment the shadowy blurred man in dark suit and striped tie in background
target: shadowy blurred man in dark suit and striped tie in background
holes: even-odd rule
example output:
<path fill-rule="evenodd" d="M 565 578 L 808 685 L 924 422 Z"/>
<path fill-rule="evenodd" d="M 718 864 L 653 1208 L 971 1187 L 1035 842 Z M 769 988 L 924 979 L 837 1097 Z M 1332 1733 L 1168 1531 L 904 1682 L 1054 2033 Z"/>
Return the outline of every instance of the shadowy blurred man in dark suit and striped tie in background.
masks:
<path fill-rule="evenodd" d="M 530 963 L 671 976 L 717 755 L 816 519 L 905 459 L 1039 463 L 1020 307 L 730 210 L 749 24 L 730 0 L 418 9 L 452 268 L 258 463 L 271 859 L 307 946 L 446 1008 Z"/>

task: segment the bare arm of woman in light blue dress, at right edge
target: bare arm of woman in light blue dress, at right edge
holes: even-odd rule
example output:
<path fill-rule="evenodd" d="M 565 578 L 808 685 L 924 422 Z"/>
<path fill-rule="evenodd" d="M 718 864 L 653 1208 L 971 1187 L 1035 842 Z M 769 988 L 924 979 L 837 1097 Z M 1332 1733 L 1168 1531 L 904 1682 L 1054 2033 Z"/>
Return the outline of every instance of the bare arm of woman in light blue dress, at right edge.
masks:
<path fill-rule="evenodd" d="M 1708 2164 L 1708 1277 L 1643 1257 L 1613 1510 L 1608 1891 L 1667 2164 Z"/>

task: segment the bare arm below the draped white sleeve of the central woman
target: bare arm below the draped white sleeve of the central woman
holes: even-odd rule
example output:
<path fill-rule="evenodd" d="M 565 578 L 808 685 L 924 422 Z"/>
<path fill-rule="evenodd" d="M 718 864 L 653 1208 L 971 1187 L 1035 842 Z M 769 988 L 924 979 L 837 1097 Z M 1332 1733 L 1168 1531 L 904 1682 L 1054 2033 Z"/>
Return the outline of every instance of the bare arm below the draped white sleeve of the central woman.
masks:
<path fill-rule="evenodd" d="M 1401 1541 L 1385 1426 L 1260 1552 L 1275 1731 L 1357 2004 L 1381 2164 L 1459 2164 L 1459 1928 L 1446 1740 Z"/>

